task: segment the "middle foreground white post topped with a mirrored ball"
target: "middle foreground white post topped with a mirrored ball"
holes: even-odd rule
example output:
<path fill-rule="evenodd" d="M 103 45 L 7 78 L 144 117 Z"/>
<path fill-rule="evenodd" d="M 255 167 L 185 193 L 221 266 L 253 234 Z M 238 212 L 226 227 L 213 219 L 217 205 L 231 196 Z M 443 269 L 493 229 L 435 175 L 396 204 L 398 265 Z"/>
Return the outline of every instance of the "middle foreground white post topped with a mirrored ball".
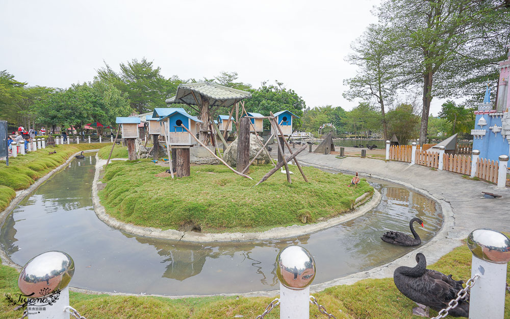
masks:
<path fill-rule="evenodd" d="M 276 257 L 280 281 L 280 319 L 310 318 L 310 284 L 315 278 L 315 261 L 302 247 L 289 246 Z"/>

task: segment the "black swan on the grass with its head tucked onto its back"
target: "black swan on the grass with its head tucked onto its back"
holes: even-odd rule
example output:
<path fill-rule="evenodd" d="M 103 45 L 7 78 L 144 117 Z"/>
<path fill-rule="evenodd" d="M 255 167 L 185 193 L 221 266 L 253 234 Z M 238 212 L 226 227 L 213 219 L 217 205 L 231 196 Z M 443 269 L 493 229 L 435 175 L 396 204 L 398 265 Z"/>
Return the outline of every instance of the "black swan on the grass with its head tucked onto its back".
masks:
<path fill-rule="evenodd" d="M 422 253 L 416 254 L 414 267 L 400 266 L 393 273 L 393 281 L 402 294 L 419 304 L 440 311 L 448 307 L 448 303 L 457 298 L 461 290 L 462 280 L 453 280 L 438 271 L 427 269 L 427 260 Z M 454 317 L 469 316 L 469 294 L 465 300 L 459 300 L 458 306 L 448 311 Z"/>

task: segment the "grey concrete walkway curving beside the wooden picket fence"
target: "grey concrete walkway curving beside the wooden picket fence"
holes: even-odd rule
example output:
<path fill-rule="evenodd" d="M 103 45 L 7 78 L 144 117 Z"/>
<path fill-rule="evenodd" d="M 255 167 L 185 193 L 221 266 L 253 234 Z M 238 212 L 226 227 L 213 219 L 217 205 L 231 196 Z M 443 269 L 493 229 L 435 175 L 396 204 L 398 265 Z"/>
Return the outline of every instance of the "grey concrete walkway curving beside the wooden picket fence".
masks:
<path fill-rule="evenodd" d="M 498 190 L 496 185 L 462 178 L 461 174 L 432 170 L 421 165 L 358 157 L 336 158 L 335 155 L 304 153 L 298 160 L 305 165 L 344 172 L 358 171 L 364 177 L 410 184 L 448 203 L 453 211 L 454 226 L 448 237 L 464 239 L 478 228 L 510 232 L 510 189 Z M 403 182 L 403 183 L 402 183 Z M 483 198 L 482 191 L 500 194 L 500 199 Z"/>

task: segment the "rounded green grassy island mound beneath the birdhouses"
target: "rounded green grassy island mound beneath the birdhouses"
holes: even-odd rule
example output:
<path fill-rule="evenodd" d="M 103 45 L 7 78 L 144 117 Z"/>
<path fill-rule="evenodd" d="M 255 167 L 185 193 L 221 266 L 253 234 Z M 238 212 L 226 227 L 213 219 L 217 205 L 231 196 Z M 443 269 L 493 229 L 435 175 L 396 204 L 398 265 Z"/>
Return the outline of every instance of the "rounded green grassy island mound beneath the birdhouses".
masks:
<path fill-rule="evenodd" d="M 190 177 L 172 180 L 156 177 L 167 167 L 149 160 L 113 162 L 99 197 L 107 212 L 125 223 L 166 230 L 191 222 L 212 233 L 303 225 L 303 216 L 313 223 L 347 212 L 356 198 L 373 192 L 366 180 L 348 187 L 351 176 L 313 167 L 303 167 L 310 181 L 305 183 L 293 165 L 292 184 L 276 172 L 253 187 L 272 167 L 251 166 L 249 180 L 223 165 L 199 165 L 191 167 Z"/>

